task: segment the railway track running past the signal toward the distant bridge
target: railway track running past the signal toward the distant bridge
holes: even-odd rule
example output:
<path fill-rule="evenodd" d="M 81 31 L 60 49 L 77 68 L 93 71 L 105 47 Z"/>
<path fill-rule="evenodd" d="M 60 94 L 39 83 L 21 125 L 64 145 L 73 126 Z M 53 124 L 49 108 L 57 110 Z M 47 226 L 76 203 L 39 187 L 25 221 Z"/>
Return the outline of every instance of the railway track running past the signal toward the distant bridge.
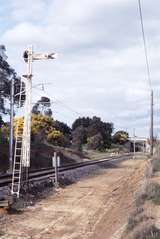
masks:
<path fill-rule="evenodd" d="M 125 154 L 125 155 L 120 155 L 120 156 L 108 157 L 106 159 L 68 164 L 66 166 L 59 167 L 58 172 L 61 174 L 61 173 L 64 173 L 65 171 L 78 169 L 78 168 L 82 168 L 82 167 L 87 167 L 87 166 L 91 166 L 91 165 L 96 165 L 96 164 L 102 164 L 102 163 L 108 163 L 108 166 L 110 166 L 111 164 L 115 164 L 122 160 L 129 159 L 132 155 L 133 154 Z M 42 168 L 42 169 L 37 169 L 37 170 L 30 170 L 28 180 L 29 180 L 29 182 L 40 181 L 40 180 L 45 180 L 45 179 L 53 177 L 53 176 L 54 176 L 54 168 L 53 167 Z M 0 176 L 0 187 L 8 186 L 11 182 L 12 182 L 12 174 L 6 174 L 6 175 Z"/>

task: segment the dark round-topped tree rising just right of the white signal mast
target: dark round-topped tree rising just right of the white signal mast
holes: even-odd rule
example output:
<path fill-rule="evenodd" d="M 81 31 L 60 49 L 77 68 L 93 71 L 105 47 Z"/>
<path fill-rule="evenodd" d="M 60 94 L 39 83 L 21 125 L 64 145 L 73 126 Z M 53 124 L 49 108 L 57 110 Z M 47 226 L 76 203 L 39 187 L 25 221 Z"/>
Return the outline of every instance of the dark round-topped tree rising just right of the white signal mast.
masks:
<path fill-rule="evenodd" d="M 42 96 L 32 108 L 33 114 L 52 116 L 51 101 L 48 97 Z"/>

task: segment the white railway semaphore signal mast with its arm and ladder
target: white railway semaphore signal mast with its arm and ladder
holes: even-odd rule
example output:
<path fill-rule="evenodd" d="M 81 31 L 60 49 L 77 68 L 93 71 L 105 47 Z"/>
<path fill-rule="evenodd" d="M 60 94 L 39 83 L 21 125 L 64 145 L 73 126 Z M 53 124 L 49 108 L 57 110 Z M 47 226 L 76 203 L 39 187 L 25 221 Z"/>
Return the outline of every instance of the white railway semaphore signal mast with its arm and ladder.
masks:
<path fill-rule="evenodd" d="M 30 167 L 30 145 L 31 145 L 31 106 L 32 106 L 32 64 L 35 60 L 56 59 L 55 53 L 34 53 L 33 47 L 29 46 L 23 54 L 27 63 L 27 74 L 25 78 L 25 89 L 20 89 L 19 107 L 21 106 L 22 94 L 25 93 L 24 122 L 21 128 L 20 120 L 17 121 L 15 152 L 13 160 L 11 194 L 19 197 L 22 167 Z"/>

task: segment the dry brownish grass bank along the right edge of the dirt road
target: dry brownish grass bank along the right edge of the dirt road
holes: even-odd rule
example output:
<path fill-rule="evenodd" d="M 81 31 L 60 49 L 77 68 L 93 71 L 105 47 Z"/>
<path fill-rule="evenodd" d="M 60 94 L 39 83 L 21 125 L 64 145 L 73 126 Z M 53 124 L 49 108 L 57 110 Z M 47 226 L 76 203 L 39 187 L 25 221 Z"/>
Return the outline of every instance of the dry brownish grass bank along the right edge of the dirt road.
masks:
<path fill-rule="evenodd" d="M 152 161 L 152 172 L 160 171 L 160 160 Z M 147 181 L 144 187 L 137 194 L 135 203 L 136 209 L 130 215 L 124 237 L 132 239 L 160 239 L 160 229 L 155 226 L 155 218 L 148 216 L 144 210 L 144 203 L 150 200 L 155 205 L 160 205 L 160 184 L 149 183 L 150 174 L 147 175 Z"/>

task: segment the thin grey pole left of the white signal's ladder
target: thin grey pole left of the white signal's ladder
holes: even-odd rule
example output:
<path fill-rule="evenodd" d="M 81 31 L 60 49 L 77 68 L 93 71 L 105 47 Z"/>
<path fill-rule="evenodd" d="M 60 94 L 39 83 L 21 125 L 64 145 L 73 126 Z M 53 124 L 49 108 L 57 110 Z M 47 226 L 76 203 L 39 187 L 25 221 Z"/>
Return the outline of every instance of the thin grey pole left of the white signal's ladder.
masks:
<path fill-rule="evenodd" d="M 10 133 L 9 133 L 9 171 L 12 171 L 13 159 L 13 117 L 14 117 L 14 76 L 11 77 L 10 88 Z"/>

